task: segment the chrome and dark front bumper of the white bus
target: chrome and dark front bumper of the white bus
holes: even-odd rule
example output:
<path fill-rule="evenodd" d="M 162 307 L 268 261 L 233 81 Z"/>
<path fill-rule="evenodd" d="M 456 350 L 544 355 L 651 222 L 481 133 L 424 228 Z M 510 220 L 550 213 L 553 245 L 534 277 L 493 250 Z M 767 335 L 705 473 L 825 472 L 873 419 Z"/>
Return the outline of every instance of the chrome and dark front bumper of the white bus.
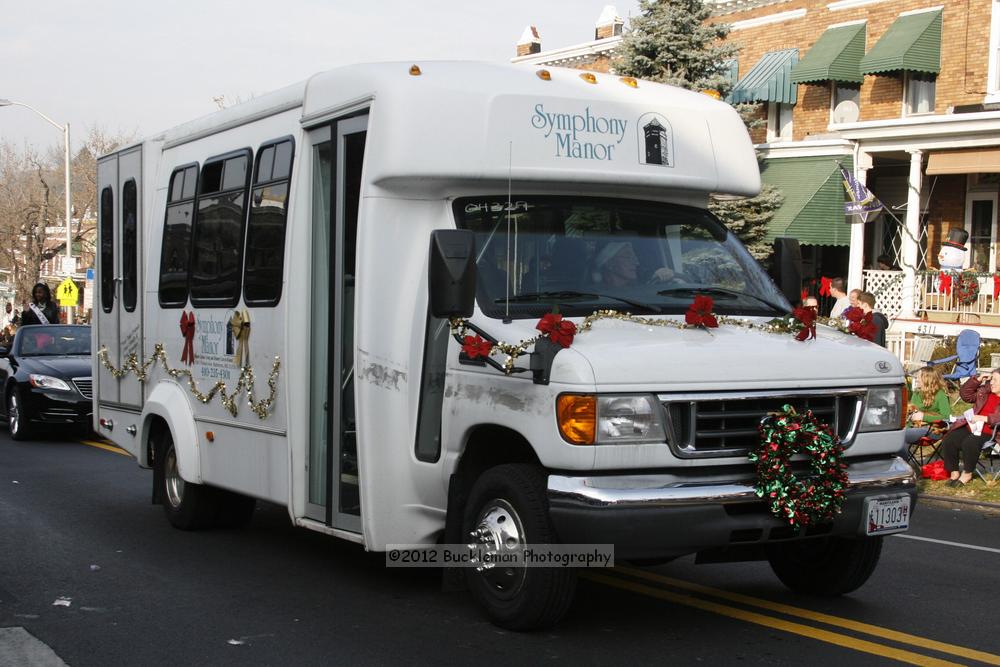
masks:
<path fill-rule="evenodd" d="M 747 547 L 819 535 L 856 535 L 865 499 L 905 493 L 916 500 L 916 475 L 901 458 L 848 462 L 841 512 L 796 533 L 771 515 L 753 490 L 752 473 L 729 479 L 688 474 L 569 477 L 550 475 L 549 513 L 567 544 L 614 544 L 617 558 L 673 558 L 708 549 Z"/>

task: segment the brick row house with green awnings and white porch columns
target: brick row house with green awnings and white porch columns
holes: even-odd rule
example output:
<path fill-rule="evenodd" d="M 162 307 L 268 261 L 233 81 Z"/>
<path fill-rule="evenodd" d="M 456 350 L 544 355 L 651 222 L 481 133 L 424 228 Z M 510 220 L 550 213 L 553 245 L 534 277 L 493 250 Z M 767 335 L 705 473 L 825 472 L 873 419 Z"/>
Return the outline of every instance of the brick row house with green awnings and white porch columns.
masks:
<path fill-rule="evenodd" d="M 785 195 L 772 235 L 798 237 L 812 275 L 876 291 L 897 332 L 981 326 L 998 337 L 1000 0 L 715 4 L 713 20 L 741 47 L 730 101 L 759 105 L 761 176 Z M 535 31 L 513 61 L 607 71 L 622 30 L 601 37 L 609 15 L 598 39 L 573 47 L 542 51 Z M 887 211 L 848 224 L 841 166 Z M 970 233 L 967 265 L 981 273 L 971 304 L 941 293 L 934 271 L 956 227 Z M 876 270 L 882 255 L 901 270 Z"/>

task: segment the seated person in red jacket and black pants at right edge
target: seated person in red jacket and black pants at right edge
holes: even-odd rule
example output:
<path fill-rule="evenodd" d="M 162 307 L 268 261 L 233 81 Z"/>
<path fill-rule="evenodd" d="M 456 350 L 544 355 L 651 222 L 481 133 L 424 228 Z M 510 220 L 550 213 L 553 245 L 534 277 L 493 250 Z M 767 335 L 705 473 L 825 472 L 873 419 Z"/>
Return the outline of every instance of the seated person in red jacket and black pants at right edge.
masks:
<path fill-rule="evenodd" d="M 983 430 L 976 435 L 963 417 L 952 424 L 944 436 L 941 458 L 950 478 L 949 486 L 964 486 L 972 481 L 983 445 L 993 437 L 993 429 L 1000 424 L 1000 368 L 989 375 L 969 378 L 959 390 L 959 395 L 966 403 L 973 404 L 975 415 L 972 422 L 981 422 Z M 958 469 L 959 454 L 962 458 L 961 473 Z"/>

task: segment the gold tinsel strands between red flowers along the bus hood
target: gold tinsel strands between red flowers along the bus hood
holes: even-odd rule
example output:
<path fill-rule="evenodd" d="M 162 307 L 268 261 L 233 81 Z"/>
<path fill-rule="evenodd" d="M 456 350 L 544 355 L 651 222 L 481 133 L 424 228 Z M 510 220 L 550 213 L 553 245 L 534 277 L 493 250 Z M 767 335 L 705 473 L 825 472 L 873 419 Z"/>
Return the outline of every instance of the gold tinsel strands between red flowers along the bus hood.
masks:
<path fill-rule="evenodd" d="M 780 334 L 796 334 L 802 330 L 802 322 L 797 320 L 794 315 L 786 315 L 785 317 L 776 317 L 774 319 L 768 320 L 767 322 L 757 323 L 751 322 L 748 318 L 743 317 L 726 317 L 721 316 L 717 318 L 719 324 L 726 324 L 729 326 L 738 326 L 743 329 L 750 329 L 751 331 L 760 331 L 763 333 L 780 333 Z M 702 326 L 693 326 L 687 324 L 683 321 L 678 321 L 668 318 L 655 318 L 655 317 L 641 317 L 639 315 L 633 315 L 631 313 L 623 313 L 617 310 L 597 310 L 587 315 L 583 318 L 583 321 L 577 326 L 577 334 L 585 333 L 590 331 L 596 322 L 601 320 L 618 320 L 621 322 L 632 322 L 634 324 L 640 324 L 642 326 L 648 327 L 667 327 L 670 329 L 703 329 L 704 331 L 711 332 L 711 329 Z M 451 332 L 460 337 L 464 337 L 469 332 L 469 320 L 463 317 L 452 318 Z M 817 317 L 816 324 L 829 327 L 831 329 L 836 329 L 842 333 L 850 333 L 848 324 L 839 318 L 832 317 Z M 533 336 L 532 338 L 526 338 L 517 343 L 505 343 L 503 341 L 497 341 L 493 344 L 490 350 L 490 355 L 494 352 L 500 352 L 507 355 L 507 359 L 503 362 L 503 369 L 506 375 L 510 375 L 514 372 L 514 363 L 517 361 L 518 357 L 527 353 L 528 348 L 533 346 L 538 340 L 542 338 L 542 334 Z"/>

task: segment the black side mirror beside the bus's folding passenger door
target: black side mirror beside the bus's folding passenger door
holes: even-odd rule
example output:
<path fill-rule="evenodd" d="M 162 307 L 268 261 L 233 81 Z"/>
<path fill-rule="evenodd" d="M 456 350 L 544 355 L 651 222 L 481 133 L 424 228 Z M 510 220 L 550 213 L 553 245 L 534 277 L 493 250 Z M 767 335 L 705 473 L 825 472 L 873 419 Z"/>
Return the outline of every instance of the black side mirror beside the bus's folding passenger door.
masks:
<path fill-rule="evenodd" d="M 476 236 L 465 229 L 431 232 L 431 315 L 469 317 L 476 303 Z"/>

